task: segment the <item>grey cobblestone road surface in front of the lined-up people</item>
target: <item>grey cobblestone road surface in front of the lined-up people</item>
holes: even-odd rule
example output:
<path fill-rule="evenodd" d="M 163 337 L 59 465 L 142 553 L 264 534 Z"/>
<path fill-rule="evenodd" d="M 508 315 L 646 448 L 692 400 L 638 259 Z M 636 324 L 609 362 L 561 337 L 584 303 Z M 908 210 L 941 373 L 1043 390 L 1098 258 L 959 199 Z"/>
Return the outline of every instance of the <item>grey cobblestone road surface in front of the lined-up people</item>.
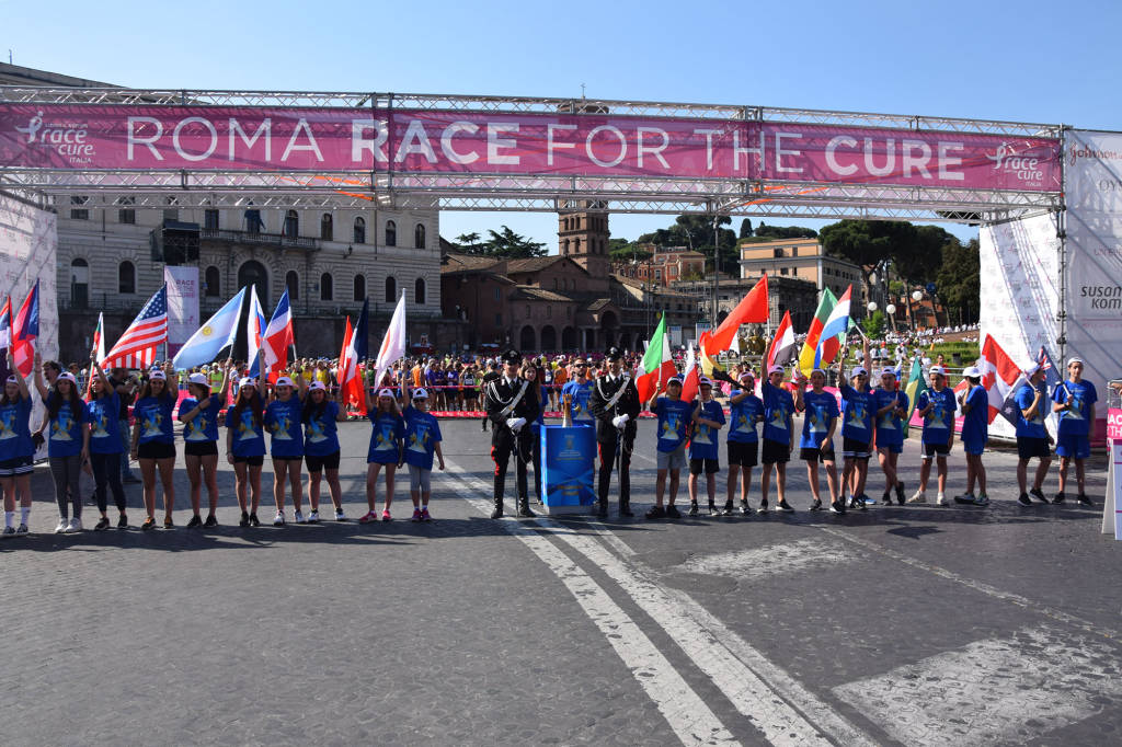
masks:
<path fill-rule="evenodd" d="M 645 522 L 643 423 L 635 518 L 491 522 L 478 428 L 442 423 L 450 469 L 433 476 L 432 524 L 407 520 L 406 478 L 388 524 L 240 529 L 222 464 L 217 529 L 183 527 L 180 470 L 175 529 L 58 536 L 38 468 L 33 535 L 0 543 L 3 743 L 1119 740 L 1122 562 L 1100 534 L 1104 459 L 1088 470 L 1095 509 L 1021 507 L 1015 455 L 994 451 L 990 508 L 812 514 L 794 462 L 793 514 Z M 342 426 L 352 519 L 368 434 Z M 909 492 L 918 453 L 912 441 L 901 458 Z M 954 495 L 959 450 L 950 463 Z M 263 481 L 267 523 L 268 464 Z M 127 491 L 138 524 L 139 486 Z"/>

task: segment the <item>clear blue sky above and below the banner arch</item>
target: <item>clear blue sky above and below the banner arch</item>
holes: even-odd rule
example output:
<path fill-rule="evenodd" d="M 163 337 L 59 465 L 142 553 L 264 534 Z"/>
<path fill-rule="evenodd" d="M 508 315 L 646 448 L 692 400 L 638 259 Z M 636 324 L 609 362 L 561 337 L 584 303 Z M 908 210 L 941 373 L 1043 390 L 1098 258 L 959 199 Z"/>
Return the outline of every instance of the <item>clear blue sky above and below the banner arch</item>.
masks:
<path fill-rule="evenodd" d="M 605 99 L 1122 129 L 1120 27 L 1112 0 L 0 0 L 0 55 L 138 87 L 573 96 L 585 84 Z M 672 220 L 616 215 L 611 233 Z M 557 251 L 550 214 L 445 212 L 441 233 L 504 223 Z"/>

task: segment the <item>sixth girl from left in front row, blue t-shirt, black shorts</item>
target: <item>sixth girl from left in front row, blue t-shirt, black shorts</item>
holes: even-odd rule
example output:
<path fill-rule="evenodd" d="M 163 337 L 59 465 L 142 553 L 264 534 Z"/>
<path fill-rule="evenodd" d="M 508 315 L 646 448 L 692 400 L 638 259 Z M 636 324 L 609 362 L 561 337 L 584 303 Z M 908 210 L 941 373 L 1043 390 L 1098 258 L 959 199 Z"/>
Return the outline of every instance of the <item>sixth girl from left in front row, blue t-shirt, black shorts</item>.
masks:
<path fill-rule="evenodd" d="M 257 370 L 265 370 L 264 354 Z M 241 509 L 239 526 L 260 526 L 261 467 L 265 463 L 265 379 L 242 377 L 226 411 L 226 459 L 233 465 L 234 494 Z M 247 502 L 247 488 L 249 502 Z"/>

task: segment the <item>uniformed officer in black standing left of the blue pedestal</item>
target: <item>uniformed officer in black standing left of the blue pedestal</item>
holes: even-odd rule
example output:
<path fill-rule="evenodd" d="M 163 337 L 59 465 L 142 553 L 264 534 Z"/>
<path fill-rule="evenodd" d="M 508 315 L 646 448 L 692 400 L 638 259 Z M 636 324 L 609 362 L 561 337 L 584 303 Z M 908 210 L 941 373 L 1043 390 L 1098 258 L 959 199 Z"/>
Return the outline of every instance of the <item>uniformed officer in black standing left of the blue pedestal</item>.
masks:
<path fill-rule="evenodd" d="M 506 468 L 514 452 L 517 469 L 518 516 L 533 516 L 526 487 L 526 462 L 530 461 L 530 422 L 537 417 L 540 405 L 534 387 L 518 376 L 522 354 L 516 350 L 503 353 L 503 374 L 484 388 L 484 408 L 491 422 L 491 459 L 495 461 L 495 510 L 491 518 L 503 516 L 503 492 Z"/>

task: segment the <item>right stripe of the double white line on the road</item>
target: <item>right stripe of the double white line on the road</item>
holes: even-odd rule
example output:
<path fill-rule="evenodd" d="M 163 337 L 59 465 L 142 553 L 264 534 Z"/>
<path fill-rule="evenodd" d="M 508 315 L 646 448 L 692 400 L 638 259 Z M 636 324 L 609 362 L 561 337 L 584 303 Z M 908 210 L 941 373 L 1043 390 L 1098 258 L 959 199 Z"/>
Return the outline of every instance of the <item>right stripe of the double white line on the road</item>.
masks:
<path fill-rule="evenodd" d="M 447 459 L 444 461 L 448 462 Z M 462 474 L 463 470 L 459 467 L 449 465 L 461 472 L 458 476 L 460 481 L 470 488 L 484 490 L 489 487 L 481 480 Z M 757 671 L 749 668 L 745 660 L 728 647 L 727 636 L 732 636 L 732 633 L 708 612 L 703 615 L 698 612 L 702 608 L 692 599 L 689 599 L 687 605 L 682 599 L 684 594 L 671 594 L 669 590 L 652 581 L 636 564 L 625 563 L 591 536 L 578 534 L 550 518 L 539 517 L 535 522 L 579 551 L 615 581 L 710 677 L 737 711 L 752 719 L 773 744 L 875 744 L 859 729 L 794 683 L 782 670 L 767 662 L 762 654 L 751 649 L 751 657 L 755 660 L 757 666 L 762 665 L 762 668 L 773 674 L 772 682 L 782 681 L 790 690 L 780 692 L 769 686 L 757 676 Z M 695 614 L 691 615 L 690 611 Z M 739 638 L 736 638 L 733 645 L 749 649 Z M 794 692 L 799 698 L 798 707 L 789 702 L 788 692 Z M 807 720 L 804 712 L 808 711 L 818 717 L 819 725 L 829 728 L 829 736 Z"/>

